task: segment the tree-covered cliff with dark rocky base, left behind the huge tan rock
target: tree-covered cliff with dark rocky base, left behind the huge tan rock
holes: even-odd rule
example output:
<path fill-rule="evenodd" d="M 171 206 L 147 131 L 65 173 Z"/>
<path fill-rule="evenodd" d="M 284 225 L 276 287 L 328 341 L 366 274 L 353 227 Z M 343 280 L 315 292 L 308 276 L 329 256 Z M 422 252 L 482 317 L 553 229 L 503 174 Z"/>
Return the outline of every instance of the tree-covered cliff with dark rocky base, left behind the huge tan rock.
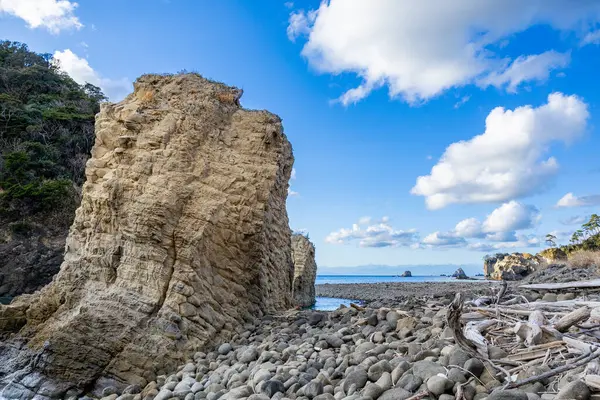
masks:
<path fill-rule="evenodd" d="M 0 297 L 31 293 L 58 271 L 104 100 L 50 54 L 0 41 Z"/>

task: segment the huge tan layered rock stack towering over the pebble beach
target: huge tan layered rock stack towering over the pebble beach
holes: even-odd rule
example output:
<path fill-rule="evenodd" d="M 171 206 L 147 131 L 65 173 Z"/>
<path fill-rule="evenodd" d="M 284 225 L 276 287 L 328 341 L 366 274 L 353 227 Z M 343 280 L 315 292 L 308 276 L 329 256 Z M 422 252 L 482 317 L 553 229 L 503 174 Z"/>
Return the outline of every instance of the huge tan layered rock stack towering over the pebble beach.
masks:
<path fill-rule="evenodd" d="M 143 387 L 292 304 L 281 120 L 197 74 L 134 88 L 96 118 L 60 272 L 0 308 L 0 398 Z"/>

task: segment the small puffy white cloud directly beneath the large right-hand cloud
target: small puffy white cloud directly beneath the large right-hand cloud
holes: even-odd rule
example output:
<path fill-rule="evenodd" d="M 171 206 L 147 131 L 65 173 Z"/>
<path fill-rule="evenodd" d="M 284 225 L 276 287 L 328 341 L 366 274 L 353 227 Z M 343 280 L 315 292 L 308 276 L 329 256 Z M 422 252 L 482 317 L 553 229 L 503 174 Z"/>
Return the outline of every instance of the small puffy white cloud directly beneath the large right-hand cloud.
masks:
<path fill-rule="evenodd" d="M 540 211 L 516 201 L 502 204 L 487 216 L 483 231 L 487 233 L 509 232 L 533 228 L 540 220 Z"/>

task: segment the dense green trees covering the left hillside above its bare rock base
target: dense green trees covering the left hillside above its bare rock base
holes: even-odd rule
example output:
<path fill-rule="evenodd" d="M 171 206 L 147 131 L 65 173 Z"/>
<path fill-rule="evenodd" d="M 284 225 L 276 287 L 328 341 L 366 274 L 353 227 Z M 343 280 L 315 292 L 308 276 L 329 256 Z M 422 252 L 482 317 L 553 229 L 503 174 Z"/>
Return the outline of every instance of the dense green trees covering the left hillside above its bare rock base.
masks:
<path fill-rule="evenodd" d="M 0 222 L 63 215 L 70 225 L 94 141 L 94 116 L 106 100 L 77 84 L 49 54 L 0 41 Z M 15 232 L 18 233 L 18 232 Z"/>

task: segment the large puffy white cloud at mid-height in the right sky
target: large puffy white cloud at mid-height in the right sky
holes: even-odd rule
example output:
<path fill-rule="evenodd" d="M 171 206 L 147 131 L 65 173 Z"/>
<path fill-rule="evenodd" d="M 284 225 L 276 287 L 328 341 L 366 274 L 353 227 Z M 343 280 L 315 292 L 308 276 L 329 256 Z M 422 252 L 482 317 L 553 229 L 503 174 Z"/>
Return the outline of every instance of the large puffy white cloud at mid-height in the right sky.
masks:
<path fill-rule="evenodd" d="M 486 118 L 485 132 L 448 146 L 411 193 L 425 196 L 428 208 L 440 209 L 540 192 L 558 171 L 556 159 L 546 156 L 550 144 L 580 136 L 588 117 L 586 103 L 562 93 L 550 94 L 537 108 L 497 107 Z"/>

